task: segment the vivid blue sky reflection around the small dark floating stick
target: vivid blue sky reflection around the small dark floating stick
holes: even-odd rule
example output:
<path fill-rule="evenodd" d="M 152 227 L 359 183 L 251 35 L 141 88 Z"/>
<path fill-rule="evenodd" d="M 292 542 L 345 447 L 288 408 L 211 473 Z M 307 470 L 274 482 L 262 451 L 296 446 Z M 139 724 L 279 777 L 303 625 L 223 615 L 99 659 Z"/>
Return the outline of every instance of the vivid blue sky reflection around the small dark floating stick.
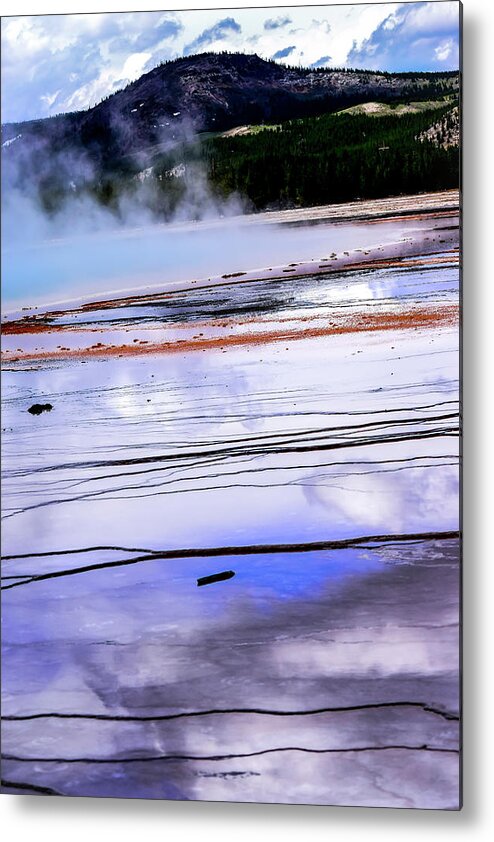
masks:
<path fill-rule="evenodd" d="M 78 562 L 84 564 L 85 557 L 61 560 L 64 566 Z M 31 560 L 31 570 L 35 565 Z M 234 570 L 234 578 L 197 587 L 200 576 L 223 569 Z M 197 629 L 234 617 L 240 606 L 255 617 L 279 610 L 285 600 L 317 600 L 326 592 L 334 597 L 347 580 L 384 569 L 375 553 L 352 549 L 149 561 L 36 582 L 5 593 L 4 642 L 21 645 L 49 638 L 74 644 L 102 636 L 128 642 L 150 628 Z M 40 615 L 45 602 L 48 610 Z"/>

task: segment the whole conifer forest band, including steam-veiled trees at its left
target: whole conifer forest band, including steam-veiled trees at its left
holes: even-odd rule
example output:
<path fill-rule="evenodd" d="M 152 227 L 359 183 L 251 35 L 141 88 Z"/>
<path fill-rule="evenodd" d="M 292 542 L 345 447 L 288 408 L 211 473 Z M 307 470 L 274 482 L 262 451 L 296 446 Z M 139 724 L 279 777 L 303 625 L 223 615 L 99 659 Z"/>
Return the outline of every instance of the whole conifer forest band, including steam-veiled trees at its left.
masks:
<path fill-rule="evenodd" d="M 380 116 L 344 111 L 233 136 L 205 132 L 158 152 L 144 174 L 128 159 L 126 167 L 78 185 L 75 195 L 89 195 L 117 215 L 123 204 L 143 205 L 166 220 L 184 204 L 201 218 L 206 182 L 208 196 L 236 194 L 250 211 L 453 188 L 459 150 L 448 137 L 455 104 L 450 99 L 419 113 L 393 113 L 397 106 L 388 105 Z M 431 127 L 433 137 L 427 135 Z M 62 173 L 41 180 L 38 195 L 53 213 L 74 191 Z"/>

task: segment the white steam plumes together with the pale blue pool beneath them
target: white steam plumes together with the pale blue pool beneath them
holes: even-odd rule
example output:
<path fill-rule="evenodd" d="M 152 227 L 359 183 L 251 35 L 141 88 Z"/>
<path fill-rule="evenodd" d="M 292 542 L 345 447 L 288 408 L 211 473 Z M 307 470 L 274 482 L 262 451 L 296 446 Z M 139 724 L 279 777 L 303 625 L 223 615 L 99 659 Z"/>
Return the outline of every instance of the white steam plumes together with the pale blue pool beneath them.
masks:
<path fill-rule="evenodd" d="M 104 191 L 105 176 L 99 175 L 94 151 L 92 157 L 84 149 L 53 152 L 48 136 L 40 139 L 39 133 L 34 141 L 27 134 L 4 145 L 6 314 L 24 306 L 144 287 L 183 288 L 185 282 L 221 280 L 248 270 L 265 269 L 269 276 L 273 267 L 275 276 L 274 267 L 282 267 L 278 274 L 293 271 L 286 268 L 290 261 L 317 261 L 375 244 L 372 226 L 293 228 L 262 224 L 262 215 L 248 219 L 249 208 L 241 197 L 215 192 L 199 156 L 192 156 L 192 163 L 179 157 L 183 144 L 190 151 L 198 142 L 190 123 L 176 118 L 173 123 L 163 118 L 163 123 L 169 125 L 160 135 L 159 151 L 172 162 L 169 169 L 159 171 L 149 154 L 139 153 L 134 174 L 126 177 L 108 206 L 95 198 Z M 138 131 L 137 122 L 126 125 L 121 115 L 114 125 L 127 138 Z M 8 128 L 16 130 L 13 137 L 22 134 L 22 126 Z M 380 225 L 380 244 L 396 242 L 402 235 L 401 222 Z"/>

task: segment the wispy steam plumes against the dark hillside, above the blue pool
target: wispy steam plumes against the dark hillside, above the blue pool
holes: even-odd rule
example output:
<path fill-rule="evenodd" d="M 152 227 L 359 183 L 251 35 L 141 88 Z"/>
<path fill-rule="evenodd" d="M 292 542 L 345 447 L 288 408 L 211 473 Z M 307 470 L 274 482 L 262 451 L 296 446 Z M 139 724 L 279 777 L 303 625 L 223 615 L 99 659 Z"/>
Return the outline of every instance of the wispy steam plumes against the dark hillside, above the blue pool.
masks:
<path fill-rule="evenodd" d="M 165 120 L 165 118 L 163 118 Z M 129 146 L 135 122 L 121 114 L 112 115 L 111 139 Z M 156 150 L 173 155 L 176 150 L 198 143 L 190 122 L 170 118 L 162 124 Z M 19 143 L 21 141 L 21 143 Z M 26 244 L 94 232 L 116 231 L 151 225 L 166 220 L 218 219 L 243 212 L 238 196 L 220 197 L 208 183 L 200 161 L 178 162 L 165 174 L 155 167 L 156 156 L 142 151 L 128 155 L 132 171 L 102 168 L 101 161 L 87 150 L 62 149 L 53 152 L 49 137 L 22 134 L 2 144 L 4 178 L 2 187 L 4 246 Z M 101 157 L 99 155 L 99 157 Z M 171 159 L 173 160 L 173 159 Z M 129 162 L 123 162 L 124 166 Z M 121 167 L 121 165 L 120 165 Z M 106 172 L 105 172 L 106 169 Z M 132 172 L 134 174 L 132 174 Z M 104 204 L 102 187 L 120 185 L 118 195 Z M 166 185 L 163 185 L 166 182 Z M 170 201 L 174 193 L 175 203 Z M 48 199 L 47 199 L 48 196 Z"/>

